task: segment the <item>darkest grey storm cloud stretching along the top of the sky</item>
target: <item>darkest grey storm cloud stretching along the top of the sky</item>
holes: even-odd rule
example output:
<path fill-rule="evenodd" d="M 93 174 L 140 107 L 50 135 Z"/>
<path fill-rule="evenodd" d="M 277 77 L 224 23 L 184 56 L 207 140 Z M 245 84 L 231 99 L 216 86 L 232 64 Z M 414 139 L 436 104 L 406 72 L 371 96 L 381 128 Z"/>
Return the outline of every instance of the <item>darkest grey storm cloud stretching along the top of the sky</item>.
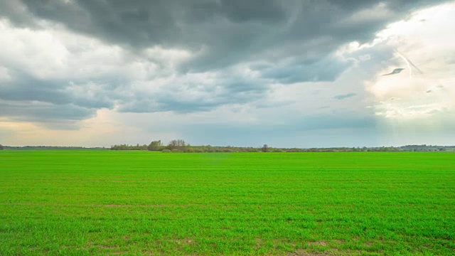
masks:
<path fill-rule="evenodd" d="M 360 21 L 349 18 L 374 9 L 378 1 L 24 0 L 23 4 L 33 16 L 134 49 L 156 45 L 203 48 L 203 53 L 182 68 L 207 70 L 262 58 L 264 50 L 289 41 L 299 44 L 329 37 L 331 48 L 316 56 L 324 58 L 341 44 L 370 40 L 391 21 L 438 1 L 383 2 L 390 8 L 390 16 Z M 9 16 L 7 12 L 3 15 Z"/>

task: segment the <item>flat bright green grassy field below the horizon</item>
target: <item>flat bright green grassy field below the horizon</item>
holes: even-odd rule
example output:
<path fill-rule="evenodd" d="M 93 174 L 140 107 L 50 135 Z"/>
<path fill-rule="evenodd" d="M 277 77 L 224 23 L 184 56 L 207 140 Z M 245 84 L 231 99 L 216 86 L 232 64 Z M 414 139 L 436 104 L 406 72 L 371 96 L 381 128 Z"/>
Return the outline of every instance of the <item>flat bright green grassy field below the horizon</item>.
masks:
<path fill-rule="evenodd" d="M 453 153 L 0 151 L 0 255 L 454 255 Z"/>

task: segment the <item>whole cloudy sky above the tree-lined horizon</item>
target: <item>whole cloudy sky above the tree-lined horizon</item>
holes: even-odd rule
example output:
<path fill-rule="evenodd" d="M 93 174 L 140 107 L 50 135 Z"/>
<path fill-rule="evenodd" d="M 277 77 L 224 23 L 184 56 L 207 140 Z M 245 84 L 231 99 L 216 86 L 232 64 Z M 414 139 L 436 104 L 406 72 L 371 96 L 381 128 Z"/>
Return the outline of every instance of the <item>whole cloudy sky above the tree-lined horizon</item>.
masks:
<path fill-rule="evenodd" d="M 0 0 L 0 144 L 455 144 L 455 1 Z"/>

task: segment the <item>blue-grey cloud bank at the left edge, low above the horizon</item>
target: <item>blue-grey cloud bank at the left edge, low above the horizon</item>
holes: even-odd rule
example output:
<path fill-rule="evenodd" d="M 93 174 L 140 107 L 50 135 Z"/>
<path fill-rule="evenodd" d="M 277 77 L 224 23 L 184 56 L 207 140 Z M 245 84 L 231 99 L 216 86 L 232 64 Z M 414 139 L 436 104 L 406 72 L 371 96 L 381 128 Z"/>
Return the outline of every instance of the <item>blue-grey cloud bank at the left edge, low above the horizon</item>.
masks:
<path fill-rule="evenodd" d="M 112 99 L 125 96 L 112 90 L 116 81 L 97 78 L 99 84 L 79 85 L 63 79 L 39 79 L 23 72 L 12 82 L 0 82 L 0 117 L 36 122 L 51 129 L 77 129 L 77 121 L 95 116 L 100 108 L 112 108 Z"/>

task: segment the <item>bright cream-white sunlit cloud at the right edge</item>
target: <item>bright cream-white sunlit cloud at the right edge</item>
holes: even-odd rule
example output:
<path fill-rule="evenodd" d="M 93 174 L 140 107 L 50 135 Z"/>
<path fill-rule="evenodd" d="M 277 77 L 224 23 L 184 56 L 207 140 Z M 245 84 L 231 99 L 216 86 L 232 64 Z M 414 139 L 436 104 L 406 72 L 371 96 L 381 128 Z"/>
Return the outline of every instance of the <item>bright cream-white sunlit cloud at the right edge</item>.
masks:
<path fill-rule="evenodd" d="M 454 63 L 446 58 L 455 52 L 455 35 L 449 33 L 455 31 L 454 11 L 455 4 L 418 11 L 407 21 L 390 24 L 367 46 L 385 44 L 394 52 L 390 65 L 383 65 L 365 83 L 375 99 L 376 114 L 418 119 L 434 111 L 455 111 Z M 395 68 L 405 70 L 382 76 Z"/>

